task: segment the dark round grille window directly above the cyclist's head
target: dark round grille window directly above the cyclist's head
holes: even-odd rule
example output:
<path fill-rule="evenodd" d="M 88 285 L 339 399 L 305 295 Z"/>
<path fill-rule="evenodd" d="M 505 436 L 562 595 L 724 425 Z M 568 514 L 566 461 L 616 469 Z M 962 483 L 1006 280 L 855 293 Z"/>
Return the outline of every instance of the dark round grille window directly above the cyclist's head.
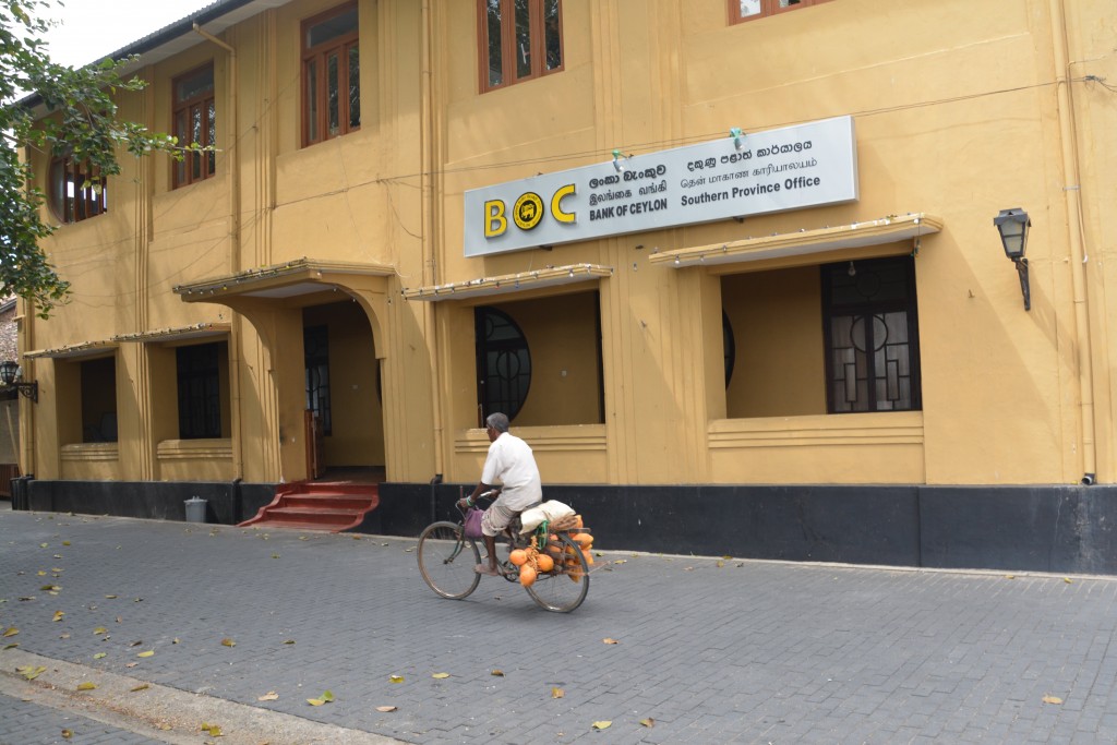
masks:
<path fill-rule="evenodd" d="M 477 331 L 477 402 L 480 420 L 496 411 L 515 419 L 532 384 L 532 355 L 524 333 L 503 311 L 474 311 Z"/>

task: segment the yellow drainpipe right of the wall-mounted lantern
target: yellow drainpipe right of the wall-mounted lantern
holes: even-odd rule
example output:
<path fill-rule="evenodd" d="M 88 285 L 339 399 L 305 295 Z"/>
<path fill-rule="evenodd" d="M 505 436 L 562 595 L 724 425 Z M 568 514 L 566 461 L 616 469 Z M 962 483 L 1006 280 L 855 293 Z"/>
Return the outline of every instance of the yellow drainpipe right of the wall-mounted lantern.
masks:
<path fill-rule="evenodd" d="M 1067 49 L 1067 9 L 1065 0 L 1050 0 L 1051 41 L 1054 55 L 1054 74 L 1059 95 L 1059 135 L 1062 144 L 1062 169 L 1067 183 L 1067 227 L 1070 247 L 1070 276 L 1075 302 L 1075 326 L 1078 347 L 1078 395 L 1081 407 L 1080 440 L 1082 443 L 1081 484 L 1094 484 L 1097 474 L 1097 442 L 1094 438 L 1094 355 L 1090 343 L 1090 309 L 1087 289 L 1086 262 L 1089 254 L 1082 237 L 1082 200 L 1079 181 L 1075 98 L 1070 88 L 1070 57 Z"/>

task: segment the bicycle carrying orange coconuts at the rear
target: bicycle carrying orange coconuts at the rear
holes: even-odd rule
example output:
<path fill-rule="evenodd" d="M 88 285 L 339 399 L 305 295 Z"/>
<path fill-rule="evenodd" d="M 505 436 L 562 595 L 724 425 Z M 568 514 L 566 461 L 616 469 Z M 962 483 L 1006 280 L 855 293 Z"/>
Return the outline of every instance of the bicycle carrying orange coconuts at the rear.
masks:
<path fill-rule="evenodd" d="M 488 497 L 486 491 L 480 497 Z M 481 563 L 477 542 L 466 535 L 466 514 L 455 505 L 461 514 L 458 522 L 438 520 L 431 523 L 419 534 L 417 558 L 419 572 L 423 582 L 442 598 L 461 600 L 468 598 L 481 581 L 481 575 L 474 567 Z M 541 545 L 541 551 L 553 557 L 554 566 L 547 572 L 538 572 L 535 582 L 525 586 L 541 608 L 556 613 L 569 613 L 582 604 L 590 591 L 590 563 L 576 541 L 571 538 L 571 531 L 551 529 L 544 524 L 527 535 L 519 534 L 519 517 L 502 534 L 507 544 L 508 554 L 517 548 L 527 550 Z M 498 536 L 500 537 L 500 536 Z M 506 555 L 497 562 L 500 575 L 508 582 L 519 582 L 519 567 Z"/>

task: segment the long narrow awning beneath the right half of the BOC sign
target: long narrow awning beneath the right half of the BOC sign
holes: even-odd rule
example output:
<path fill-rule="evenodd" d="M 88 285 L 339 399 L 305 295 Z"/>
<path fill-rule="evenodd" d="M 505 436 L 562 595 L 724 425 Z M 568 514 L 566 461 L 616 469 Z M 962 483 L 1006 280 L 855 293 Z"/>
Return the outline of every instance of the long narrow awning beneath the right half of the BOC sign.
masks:
<path fill-rule="evenodd" d="M 828 254 L 848 248 L 894 243 L 918 239 L 943 229 L 941 218 L 926 212 L 890 214 L 879 220 L 855 222 L 836 228 L 819 228 L 799 232 L 776 233 L 763 238 L 745 238 L 726 243 L 695 246 L 675 251 L 661 251 L 648 257 L 651 264 L 688 267 L 714 264 L 742 264 L 786 256 Z"/>

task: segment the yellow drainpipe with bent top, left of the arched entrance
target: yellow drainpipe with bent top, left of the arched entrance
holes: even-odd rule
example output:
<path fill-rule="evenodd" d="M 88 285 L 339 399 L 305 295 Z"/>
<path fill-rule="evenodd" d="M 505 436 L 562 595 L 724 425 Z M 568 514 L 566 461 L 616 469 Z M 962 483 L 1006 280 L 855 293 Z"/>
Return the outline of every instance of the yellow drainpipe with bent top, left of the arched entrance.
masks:
<path fill-rule="evenodd" d="M 229 52 L 229 98 L 232 101 L 229 112 L 229 134 L 227 140 L 230 143 L 226 149 L 226 162 L 229 164 L 229 211 L 231 219 L 230 227 L 230 239 L 232 242 L 232 251 L 230 256 L 231 274 L 240 271 L 240 257 L 241 257 L 241 231 L 240 231 L 240 151 L 237 147 L 238 133 L 240 131 L 240 125 L 238 123 L 237 109 L 240 104 L 240 92 L 239 92 L 239 69 L 237 66 L 237 50 L 231 46 L 217 38 L 198 23 L 193 25 L 194 32 L 203 39 L 211 41 L 212 44 L 221 47 L 227 52 Z M 233 478 L 240 480 L 245 476 L 245 455 L 244 455 L 244 443 L 241 442 L 241 395 L 240 395 L 240 340 L 241 340 L 241 328 L 244 319 L 240 314 L 229 309 L 230 325 L 232 326 L 232 333 L 229 337 L 229 397 L 232 399 L 230 401 L 229 410 L 231 411 L 232 421 L 230 422 L 230 437 L 232 439 L 232 472 Z"/>

